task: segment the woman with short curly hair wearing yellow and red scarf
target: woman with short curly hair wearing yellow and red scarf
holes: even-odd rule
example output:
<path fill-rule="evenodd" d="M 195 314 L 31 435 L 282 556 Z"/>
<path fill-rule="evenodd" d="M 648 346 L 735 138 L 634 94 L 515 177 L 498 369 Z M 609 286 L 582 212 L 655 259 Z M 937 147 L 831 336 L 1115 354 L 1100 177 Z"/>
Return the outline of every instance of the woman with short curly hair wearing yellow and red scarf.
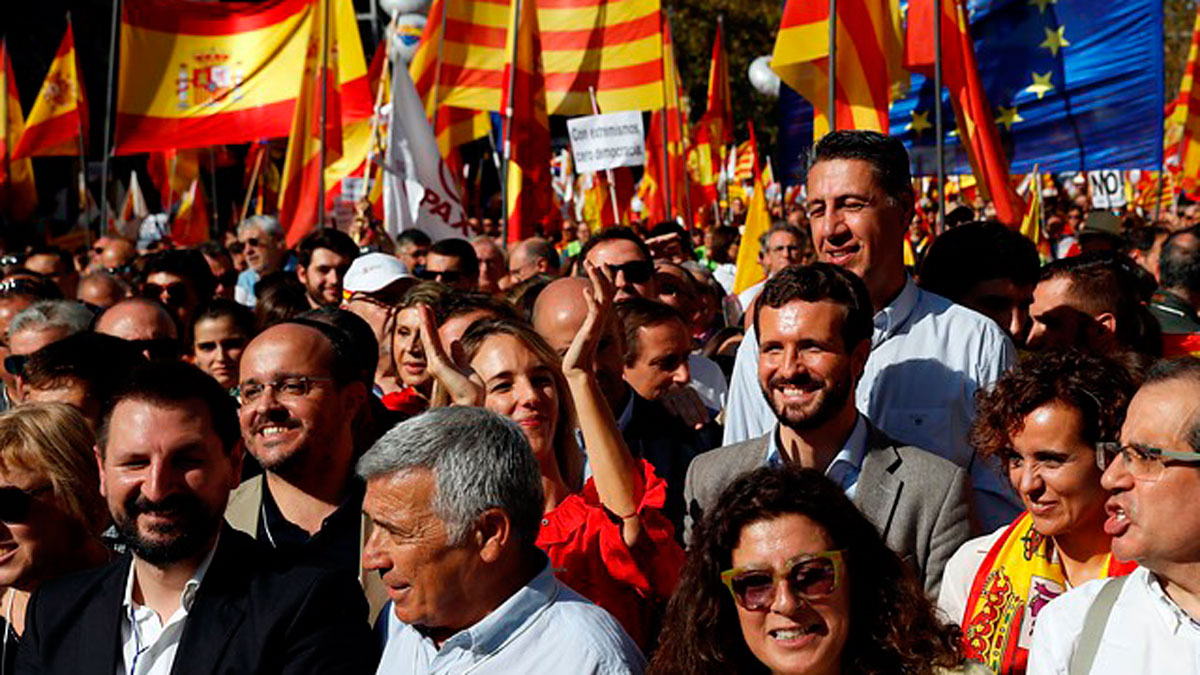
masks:
<path fill-rule="evenodd" d="M 1000 459 L 1026 510 L 962 544 L 937 604 L 961 622 L 967 656 L 1000 675 L 1025 673 L 1048 602 L 1135 567 L 1110 552 L 1097 462 L 1098 443 L 1116 441 L 1134 389 L 1126 366 L 1066 351 L 1030 358 L 978 396 L 971 443 Z"/>

